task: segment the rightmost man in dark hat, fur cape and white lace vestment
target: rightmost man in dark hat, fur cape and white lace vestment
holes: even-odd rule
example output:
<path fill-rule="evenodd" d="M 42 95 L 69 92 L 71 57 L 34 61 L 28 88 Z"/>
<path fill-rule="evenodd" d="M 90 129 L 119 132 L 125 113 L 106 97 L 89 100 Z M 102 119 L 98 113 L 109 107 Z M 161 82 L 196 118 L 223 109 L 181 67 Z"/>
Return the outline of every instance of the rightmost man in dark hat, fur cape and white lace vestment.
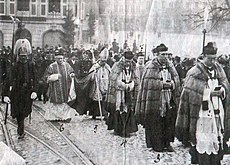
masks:
<path fill-rule="evenodd" d="M 228 104 L 222 104 L 228 97 L 229 83 L 216 62 L 216 53 L 217 48 L 209 42 L 203 49 L 203 60 L 188 71 L 181 93 L 176 136 L 191 144 L 192 164 L 220 165 L 229 136 Z"/>

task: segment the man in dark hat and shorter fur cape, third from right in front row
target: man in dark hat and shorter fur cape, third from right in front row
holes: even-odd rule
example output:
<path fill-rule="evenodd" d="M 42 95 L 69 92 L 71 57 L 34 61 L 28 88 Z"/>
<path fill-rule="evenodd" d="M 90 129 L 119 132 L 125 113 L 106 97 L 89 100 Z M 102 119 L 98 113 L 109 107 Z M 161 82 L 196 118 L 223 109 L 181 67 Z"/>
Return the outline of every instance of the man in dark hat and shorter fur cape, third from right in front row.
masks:
<path fill-rule="evenodd" d="M 135 74 L 134 55 L 126 51 L 118 62 L 115 62 L 110 74 L 110 84 L 107 99 L 107 111 L 110 113 L 107 125 L 108 130 L 115 134 L 128 137 L 137 131 L 134 117 L 135 88 L 137 76 Z"/>

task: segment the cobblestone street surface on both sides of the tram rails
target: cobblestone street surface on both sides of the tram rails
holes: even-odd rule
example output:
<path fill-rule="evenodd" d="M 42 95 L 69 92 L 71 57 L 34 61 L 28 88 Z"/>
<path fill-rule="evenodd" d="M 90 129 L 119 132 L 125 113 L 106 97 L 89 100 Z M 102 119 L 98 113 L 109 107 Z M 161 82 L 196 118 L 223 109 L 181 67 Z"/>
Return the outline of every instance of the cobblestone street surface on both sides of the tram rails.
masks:
<path fill-rule="evenodd" d="M 43 134 L 44 139 L 57 136 L 52 132 L 47 133 L 44 126 L 45 123 L 41 122 L 38 113 L 36 113 L 40 108 L 46 110 L 49 107 L 49 103 L 43 104 L 42 102 L 35 101 L 34 104 L 31 124 L 27 119 L 26 129 Z M 4 108 L 4 105 L 1 105 L 1 108 Z M 54 124 L 59 127 L 62 123 L 56 122 Z M 188 149 L 183 148 L 182 144 L 177 140 L 172 144 L 175 152 L 157 153 L 146 148 L 145 133 L 142 126 L 139 126 L 136 134 L 124 139 L 114 135 L 113 131 L 108 131 L 104 121 L 99 119 L 93 120 L 88 116 L 74 116 L 70 123 L 63 124 L 64 131 L 62 133 L 98 165 L 190 164 Z M 12 127 L 10 127 L 10 133 L 15 141 L 15 151 L 28 164 L 63 164 L 47 148 L 35 140 L 28 138 L 28 135 L 25 136 L 24 140 L 18 140 L 16 129 Z M 2 140 L 2 133 L 0 134 L 0 138 Z M 57 136 L 56 139 L 56 143 L 58 144 L 59 137 Z M 125 140 L 127 143 L 124 147 L 123 142 Z M 224 156 L 222 164 L 230 164 L 229 155 Z"/>

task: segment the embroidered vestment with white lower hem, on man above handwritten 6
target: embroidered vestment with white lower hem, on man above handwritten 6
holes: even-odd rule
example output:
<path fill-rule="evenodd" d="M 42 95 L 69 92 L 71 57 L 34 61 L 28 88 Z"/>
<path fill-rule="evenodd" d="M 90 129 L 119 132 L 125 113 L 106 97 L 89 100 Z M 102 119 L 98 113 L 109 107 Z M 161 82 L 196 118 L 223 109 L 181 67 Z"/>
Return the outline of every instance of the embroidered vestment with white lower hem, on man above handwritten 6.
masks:
<path fill-rule="evenodd" d="M 72 109 L 67 105 L 71 83 L 69 75 L 72 72 L 73 69 L 67 62 L 62 64 L 54 62 L 45 71 L 44 76 L 46 79 L 50 75 L 61 75 L 57 81 L 49 82 L 48 91 L 51 105 L 45 113 L 47 120 L 67 120 L 73 115 Z"/>

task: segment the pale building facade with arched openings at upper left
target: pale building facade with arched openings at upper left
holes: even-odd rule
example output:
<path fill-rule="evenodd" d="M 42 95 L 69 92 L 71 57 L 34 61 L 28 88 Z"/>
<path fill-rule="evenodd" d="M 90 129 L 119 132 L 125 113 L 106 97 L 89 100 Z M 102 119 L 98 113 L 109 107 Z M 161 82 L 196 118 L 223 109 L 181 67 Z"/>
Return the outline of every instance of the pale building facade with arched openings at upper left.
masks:
<path fill-rule="evenodd" d="M 25 23 L 34 47 L 64 46 L 62 24 L 68 10 L 72 10 L 75 19 L 78 43 L 84 30 L 81 24 L 85 8 L 84 0 L 0 0 L 0 48 L 11 46 L 18 21 Z"/>

